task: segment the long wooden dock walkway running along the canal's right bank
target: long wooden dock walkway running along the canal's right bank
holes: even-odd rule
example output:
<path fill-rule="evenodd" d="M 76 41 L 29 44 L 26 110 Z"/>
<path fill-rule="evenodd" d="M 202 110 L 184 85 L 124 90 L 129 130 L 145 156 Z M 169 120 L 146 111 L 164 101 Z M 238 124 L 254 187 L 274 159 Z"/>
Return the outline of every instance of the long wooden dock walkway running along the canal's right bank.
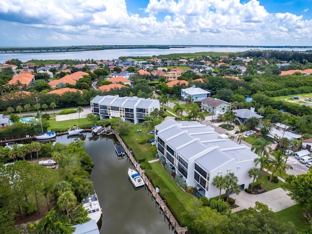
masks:
<path fill-rule="evenodd" d="M 154 188 L 153 184 L 150 181 L 150 178 L 148 178 L 145 175 L 144 170 L 142 170 L 136 158 L 131 154 L 130 150 L 127 148 L 122 138 L 119 137 L 119 135 L 116 133 L 115 129 L 112 129 L 112 134 L 114 134 L 117 137 L 117 140 L 123 147 L 126 155 L 130 159 L 132 164 L 137 168 L 138 173 L 142 176 L 146 188 L 148 188 L 150 194 L 154 197 L 156 203 L 159 205 L 159 211 L 161 211 L 169 221 L 169 228 L 171 227 L 171 230 L 174 230 L 176 234 L 185 234 L 187 232 L 187 227 L 181 227 L 179 223 L 176 221 L 175 216 L 170 212 L 166 202 L 162 200 L 162 198 L 159 195 L 159 192 L 158 193 L 156 192 L 156 188 Z"/>

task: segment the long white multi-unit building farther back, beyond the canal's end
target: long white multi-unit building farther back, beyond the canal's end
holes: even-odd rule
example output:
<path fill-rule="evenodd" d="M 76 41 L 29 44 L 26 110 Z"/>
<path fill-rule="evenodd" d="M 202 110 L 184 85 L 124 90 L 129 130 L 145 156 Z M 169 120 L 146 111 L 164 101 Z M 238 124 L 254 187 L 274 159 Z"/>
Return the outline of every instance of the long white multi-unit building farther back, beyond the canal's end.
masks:
<path fill-rule="evenodd" d="M 137 97 L 97 96 L 90 101 L 91 111 L 101 119 L 120 117 L 130 123 L 144 122 L 145 117 L 156 108 L 160 109 L 159 100 Z"/>

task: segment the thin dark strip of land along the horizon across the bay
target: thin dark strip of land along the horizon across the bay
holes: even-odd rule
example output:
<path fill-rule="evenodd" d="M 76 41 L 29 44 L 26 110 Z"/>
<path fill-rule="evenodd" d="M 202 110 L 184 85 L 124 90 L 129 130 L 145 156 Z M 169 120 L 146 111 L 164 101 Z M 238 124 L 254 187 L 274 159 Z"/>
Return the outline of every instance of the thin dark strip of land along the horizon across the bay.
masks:
<path fill-rule="evenodd" d="M 78 52 L 96 51 L 112 49 L 170 49 L 186 47 L 240 47 L 240 48 L 259 48 L 259 49 L 295 49 L 311 48 L 312 46 L 254 46 L 254 45 L 89 45 L 89 46 L 54 46 L 54 47 L 0 47 L 0 54 L 25 54 L 25 53 L 55 53 L 55 52 Z"/>

